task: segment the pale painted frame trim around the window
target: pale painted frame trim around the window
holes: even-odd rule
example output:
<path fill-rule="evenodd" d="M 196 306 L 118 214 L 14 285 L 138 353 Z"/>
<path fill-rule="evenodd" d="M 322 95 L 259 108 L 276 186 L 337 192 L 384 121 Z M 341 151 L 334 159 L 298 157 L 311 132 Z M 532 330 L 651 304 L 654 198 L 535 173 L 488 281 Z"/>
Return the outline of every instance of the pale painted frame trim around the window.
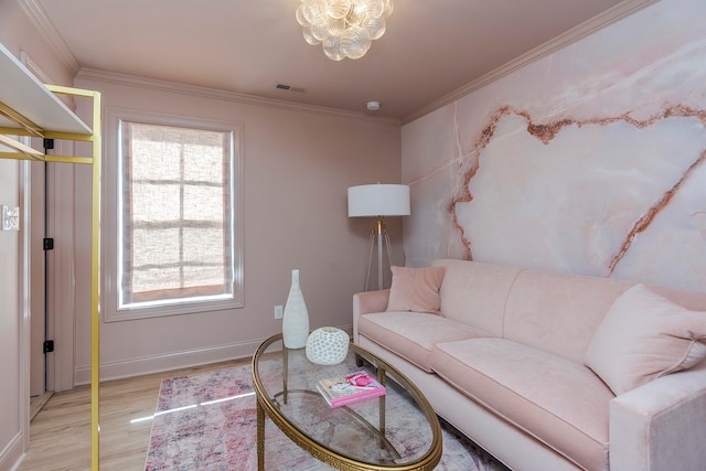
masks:
<path fill-rule="evenodd" d="M 231 164 L 232 189 L 232 295 L 191 298 L 178 302 L 141 303 L 120 307 L 118 280 L 121 260 L 120 231 L 120 191 L 121 169 L 119 156 L 120 122 L 143 122 L 149 125 L 173 126 L 229 132 L 233 136 L 233 161 Z M 108 107 L 105 111 L 105 152 L 103 163 L 103 222 L 101 222 L 101 312 L 106 322 L 180 315 L 208 311 L 222 311 L 244 307 L 243 300 L 243 126 L 206 118 L 165 115 L 150 111 L 129 110 Z"/>

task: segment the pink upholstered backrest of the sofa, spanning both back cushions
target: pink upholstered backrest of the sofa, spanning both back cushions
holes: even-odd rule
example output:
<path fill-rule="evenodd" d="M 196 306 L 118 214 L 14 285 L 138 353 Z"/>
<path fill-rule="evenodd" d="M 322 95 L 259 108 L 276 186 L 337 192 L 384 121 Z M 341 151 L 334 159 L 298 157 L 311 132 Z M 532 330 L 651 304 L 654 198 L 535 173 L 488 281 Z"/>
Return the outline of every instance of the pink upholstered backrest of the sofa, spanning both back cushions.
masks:
<path fill-rule="evenodd" d="M 441 315 L 545 352 L 584 363 L 588 344 L 616 299 L 635 281 L 440 259 Z M 706 311 L 706 292 L 648 285 L 693 311 Z"/>

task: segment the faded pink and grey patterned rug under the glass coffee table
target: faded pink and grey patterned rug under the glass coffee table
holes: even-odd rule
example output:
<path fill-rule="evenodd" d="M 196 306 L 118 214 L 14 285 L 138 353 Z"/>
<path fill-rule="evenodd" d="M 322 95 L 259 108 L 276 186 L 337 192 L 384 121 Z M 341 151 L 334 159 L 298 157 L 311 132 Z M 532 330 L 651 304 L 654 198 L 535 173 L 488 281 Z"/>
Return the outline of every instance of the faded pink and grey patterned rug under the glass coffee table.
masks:
<path fill-rule="evenodd" d="M 152 422 L 146 471 L 257 470 L 255 393 L 250 366 L 162 381 Z M 500 471 L 442 425 L 443 457 L 437 470 Z M 331 470 L 266 421 L 267 470 Z"/>

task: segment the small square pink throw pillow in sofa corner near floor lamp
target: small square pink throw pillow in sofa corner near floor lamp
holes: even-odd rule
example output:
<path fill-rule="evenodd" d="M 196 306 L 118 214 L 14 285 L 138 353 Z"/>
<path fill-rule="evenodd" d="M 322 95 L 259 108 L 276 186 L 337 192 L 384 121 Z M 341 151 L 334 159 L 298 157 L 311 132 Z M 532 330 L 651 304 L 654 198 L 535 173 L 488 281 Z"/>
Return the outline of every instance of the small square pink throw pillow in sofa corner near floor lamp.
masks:
<path fill-rule="evenodd" d="M 392 267 L 393 282 L 389 287 L 388 311 L 414 311 L 439 313 L 443 281 L 443 267 L 407 268 Z"/>

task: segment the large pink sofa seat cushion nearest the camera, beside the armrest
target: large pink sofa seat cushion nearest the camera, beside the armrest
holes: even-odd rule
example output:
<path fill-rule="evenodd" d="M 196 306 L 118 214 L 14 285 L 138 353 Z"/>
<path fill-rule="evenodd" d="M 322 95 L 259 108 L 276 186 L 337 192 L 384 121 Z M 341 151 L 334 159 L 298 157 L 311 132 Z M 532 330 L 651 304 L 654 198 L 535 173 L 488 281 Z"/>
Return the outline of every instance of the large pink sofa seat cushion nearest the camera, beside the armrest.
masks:
<path fill-rule="evenodd" d="M 612 392 L 586 366 L 503 339 L 437 344 L 431 368 L 587 470 L 608 469 Z"/>

